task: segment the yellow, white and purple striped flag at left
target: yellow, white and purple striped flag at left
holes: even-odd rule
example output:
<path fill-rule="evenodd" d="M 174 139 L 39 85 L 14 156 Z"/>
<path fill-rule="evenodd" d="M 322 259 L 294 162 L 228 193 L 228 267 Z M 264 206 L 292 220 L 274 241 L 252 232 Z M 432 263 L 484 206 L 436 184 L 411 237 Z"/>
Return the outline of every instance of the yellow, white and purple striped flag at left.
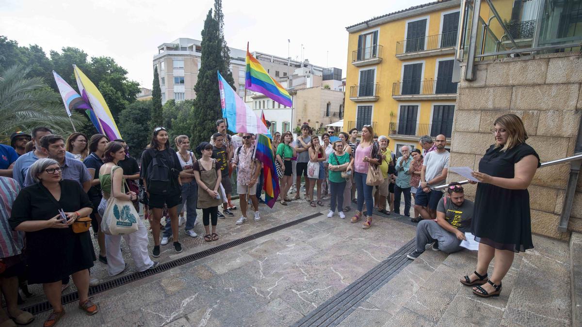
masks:
<path fill-rule="evenodd" d="M 88 79 L 83 72 L 81 72 L 79 67 L 73 65 L 73 68 L 81 97 L 86 99 L 86 101 L 91 105 L 91 108 L 93 108 L 95 116 L 97 116 L 101 130 L 105 136 L 109 138 L 109 141 L 122 138 L 121 133 L 119 133 L 119 129 L 117 128 L 117 124 L 115 123 L 115 119 L 113 119 L 111 111 L 109 111 L 109 107 L 107 106 L 107 103 L 105 103 L 103 95 L 101 95 L 100 91 L 97 90 L 95 84 L 93 84 L 93 82 Z"/>

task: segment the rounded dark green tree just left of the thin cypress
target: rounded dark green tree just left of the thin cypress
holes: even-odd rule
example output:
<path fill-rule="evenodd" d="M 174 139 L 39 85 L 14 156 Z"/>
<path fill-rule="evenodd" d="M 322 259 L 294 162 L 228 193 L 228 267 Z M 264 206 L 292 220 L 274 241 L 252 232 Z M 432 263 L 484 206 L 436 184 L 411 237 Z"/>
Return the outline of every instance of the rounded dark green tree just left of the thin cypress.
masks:
<path fill-rule="evenodd" d="M 152 101 L 136 101 L 119 115 L 118 127 L 123 140 L 129 145 L 129 153 L 136 158 L 150 143 L 152 130 L 149 127 Z"/>

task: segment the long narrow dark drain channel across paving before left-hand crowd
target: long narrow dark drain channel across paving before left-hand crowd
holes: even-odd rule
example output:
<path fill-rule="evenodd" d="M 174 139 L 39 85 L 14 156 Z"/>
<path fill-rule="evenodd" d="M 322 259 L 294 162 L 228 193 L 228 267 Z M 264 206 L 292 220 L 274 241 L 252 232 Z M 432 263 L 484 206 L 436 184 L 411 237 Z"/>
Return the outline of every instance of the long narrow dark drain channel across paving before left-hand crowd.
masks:
<path fill-rule="evenodd" d="M 302 222 L 306 222 L 310 219 L 313 219 L 313 218 L 315 218 L 317 216 L 321 216 L 321 215 L 322 215 L 321 212 L 317 212 L 313 215 L 308 215 L 306 217 L 299 218 L 299 219 L 296 219 L 294 221 L 290 221 L 287 223 L 283 223 L 282 225 L 275 226 L 273 228 L 269 228 L 269 229 L 263 230 L 263 231 L 258 232 L 258 233 L 254 233 L 254 234 L 242 237 L 242 238 L 237 239 L 237 240 L 229 241 L 228 243 L 221 244 L 217 247 L 208 248 L 207 250 L 187 255 L 186 257 L 182 257 L 182 258 L 178 258 L 176 260 L 165 262 L 164 264 L 160 264 L 159 266 L 157 266 L 155 269 L 149 269 L 147 271 L 142 271 L 142 272 L 134 272 L 134 273 L 130 273 L 129 275 L 126 275 L 126 276 L 121 276 L 121 277 L 116 278 L 116 279 L 108 280 L 107 282 L 101 283 L 97 286 L 89 287 L 89 296 L 93 296 L 95 294 L 102 293 L 102 292 L 105 292 L 105 291 L 110 290 L 110 289 L 114 289 L 115 287 L 126 285 L 126 284 L 131 283 L 131 282 L 135 282 L 136 280 L 140 280 L 140 279 L 152 276 L 152 275 L 156 275 L 157 273 L 161 273 L 161 272 L 167 271 L 169 269 L 176 268 L 177 266 L 188 264 L 190 262 L 199 260 L 201 258 L 208 257 L 208 255 L 212 255 L 212 254 L 224 251 L 224 250 L 228 250 L 229 248 L 239 246 L 240 244 L 247 243 L 247 242 L 255 240 L 255 239 L 259 239 L 260 237 L 278 232 L 279 230 L 286 229 L 286 228 L 289 228 L 289 227 L 294 226 L 294 225 L 298 225 Z M 68 304 L 68 303 L 72 303 L 72 302 L 78 301 L 78 300 L 79 300 L 79 293 L 77 293 L 77 292 L 68 293 L 68 294 L 61 296 L 61 303 L 62 304 Z M 41 303 L 30 305 L 29 307 L 26 307 L 26 308 L 22 308 L 22 310 L 28 311 L 33 315 L 36 315 L 36 314 L 39 314 L 40 312 L 48 311 L 51 309 L 52 309 L 52 306 L 50 303 L 48 303 L 48 301 L 44 301 Z"/>

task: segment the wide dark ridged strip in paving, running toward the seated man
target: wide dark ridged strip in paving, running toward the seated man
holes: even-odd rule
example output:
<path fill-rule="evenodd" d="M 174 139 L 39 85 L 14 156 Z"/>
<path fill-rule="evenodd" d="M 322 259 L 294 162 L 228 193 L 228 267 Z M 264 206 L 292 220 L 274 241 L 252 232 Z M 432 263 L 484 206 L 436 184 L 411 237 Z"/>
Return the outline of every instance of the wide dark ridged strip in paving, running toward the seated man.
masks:
<path fill-rule="evenodd" d="M 315 308 L 296 322 L 294 326 L 335 326 L 340 324 L 343 319 L 356 310 L 361 301 L 388 283 L 412 261 L 406 258 L 406 254 L 416 247 L 415 240 L 412 239 L 404 244 L 386 260 Z"/>

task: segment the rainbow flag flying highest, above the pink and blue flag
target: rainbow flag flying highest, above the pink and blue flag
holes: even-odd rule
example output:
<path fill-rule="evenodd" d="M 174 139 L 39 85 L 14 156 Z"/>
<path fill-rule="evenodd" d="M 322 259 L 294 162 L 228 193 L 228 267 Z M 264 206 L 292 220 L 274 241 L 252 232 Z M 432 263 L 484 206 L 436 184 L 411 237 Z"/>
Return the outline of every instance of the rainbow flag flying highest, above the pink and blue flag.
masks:
<path fill-rule="evenodd" d="M 272 79 L 262 65 L 247 48 L 247 73 L 245 87 L 247 90 L 260 92 L 267 97 L 274 99 L 282 105 L 293 106 L 293 101 L 289 92 L 285 90 L 276 80 Z"/>

